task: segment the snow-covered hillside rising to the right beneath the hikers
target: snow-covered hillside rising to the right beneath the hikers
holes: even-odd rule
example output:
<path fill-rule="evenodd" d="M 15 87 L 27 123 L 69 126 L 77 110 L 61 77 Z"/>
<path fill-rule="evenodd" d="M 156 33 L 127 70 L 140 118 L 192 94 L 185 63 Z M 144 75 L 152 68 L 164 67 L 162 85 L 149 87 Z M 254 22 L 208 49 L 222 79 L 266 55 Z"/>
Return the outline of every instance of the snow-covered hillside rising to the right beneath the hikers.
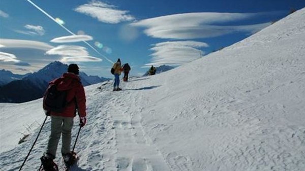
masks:
<path fill-rule="evenodd" d="M 87 86 L 74 170 L 305 170 L 304 21 L 302 9 L 199 60 L 122 82 L 123 91 Z M 0 108 L 0 169 L 19 170 L 45 118 L 42 101 Z M 32 134 L 18 145 L 21 132 Z M 50 119 L 23 170 L 38 169 L 49 133 Z"/>

